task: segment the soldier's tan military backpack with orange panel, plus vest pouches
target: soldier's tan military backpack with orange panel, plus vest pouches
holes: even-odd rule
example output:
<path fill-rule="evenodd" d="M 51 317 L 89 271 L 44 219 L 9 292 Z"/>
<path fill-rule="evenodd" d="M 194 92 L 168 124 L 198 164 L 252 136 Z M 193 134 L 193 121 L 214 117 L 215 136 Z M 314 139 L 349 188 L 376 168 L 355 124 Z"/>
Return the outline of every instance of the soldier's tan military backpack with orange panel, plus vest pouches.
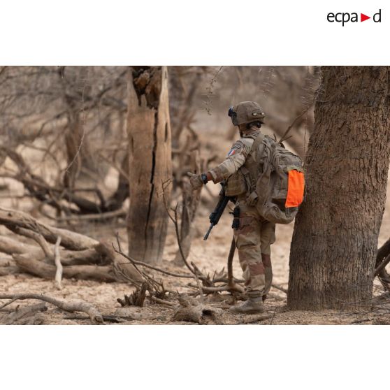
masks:
<path fill-rule="evenodd" d="M 303 201 L 304 188 L 301 158 L 259 133 L 243 166 L 228 178 L 225 194 L 245 198 L 270 222 L 289 224 Z"/>

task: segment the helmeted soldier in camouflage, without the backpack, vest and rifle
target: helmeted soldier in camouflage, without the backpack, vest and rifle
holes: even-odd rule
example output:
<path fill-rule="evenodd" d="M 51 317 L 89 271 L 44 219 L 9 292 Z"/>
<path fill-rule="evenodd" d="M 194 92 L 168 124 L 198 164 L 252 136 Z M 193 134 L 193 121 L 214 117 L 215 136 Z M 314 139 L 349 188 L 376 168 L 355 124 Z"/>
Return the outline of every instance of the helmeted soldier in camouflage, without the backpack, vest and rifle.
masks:
<path fill-rule="evenodd" d="M 193 189 L 205 185 L 209 180 L 214 183 L 227 180 L 239 170 L 251 171 L 250 164 L 261 164 L 264 156 L 257 155 L 255 159 L 247 159 L 247 157 L 254 140 L 260 133 L 265 116 L 263 110 L 254 101 L 244 101 L 231 107 L 229 116 L 233 124 L 238 126 L 241 138 L 233 144 L 222 164 L 201 175 L 189 173 Z M 240 223 L 238 229 L 234 230 L 240 266 L 245 279 L 247 301 L 230 308 L 233 313 L 245 314 L 259 313 L 264 310 L 263 300 L 272 282 L 270 245 L 275 242 L 275 223 L 259 215 L 254 205 L 250 204 L 248 195 L 246 192 L 237 196 L 236 205 L 240 208 Z"/>

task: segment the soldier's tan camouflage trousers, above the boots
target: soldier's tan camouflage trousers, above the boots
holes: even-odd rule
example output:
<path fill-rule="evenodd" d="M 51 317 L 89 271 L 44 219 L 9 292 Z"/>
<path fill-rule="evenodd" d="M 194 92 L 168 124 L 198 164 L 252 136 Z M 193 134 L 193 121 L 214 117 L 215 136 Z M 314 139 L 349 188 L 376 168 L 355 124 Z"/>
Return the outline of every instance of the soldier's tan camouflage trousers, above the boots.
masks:
<path fill-rule="evenodd" d="M 240 227 L 233 231 L 246 290 L 268 294 L 272 283 L 270 245 L 275 243 L 275 224 L 260 217 L 256 208 L 240 202 Z"/>

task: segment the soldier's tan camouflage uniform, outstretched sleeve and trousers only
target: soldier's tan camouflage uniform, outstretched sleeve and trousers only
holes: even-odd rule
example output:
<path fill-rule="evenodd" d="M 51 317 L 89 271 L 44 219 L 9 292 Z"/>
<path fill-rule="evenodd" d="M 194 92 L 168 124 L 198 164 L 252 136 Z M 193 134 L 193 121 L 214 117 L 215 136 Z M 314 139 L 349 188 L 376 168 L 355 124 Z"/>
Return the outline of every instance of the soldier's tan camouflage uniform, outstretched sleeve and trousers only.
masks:
<path fill-rule="evenodd" d="M 213 182 L 226 180 L 245 164 L 258 133 L 258 129 L 251 128 L 233 144 L 222 164 L 209 171 Z M 240 227 L 234 230 L 234 238 L 247 292 L 259 291 L 265 295 L 272 282 L 270 245 L 275 242 L 275 224 L 263 219 L 256 208 L 247 205 L 246 196 L 238 196 Z"/>

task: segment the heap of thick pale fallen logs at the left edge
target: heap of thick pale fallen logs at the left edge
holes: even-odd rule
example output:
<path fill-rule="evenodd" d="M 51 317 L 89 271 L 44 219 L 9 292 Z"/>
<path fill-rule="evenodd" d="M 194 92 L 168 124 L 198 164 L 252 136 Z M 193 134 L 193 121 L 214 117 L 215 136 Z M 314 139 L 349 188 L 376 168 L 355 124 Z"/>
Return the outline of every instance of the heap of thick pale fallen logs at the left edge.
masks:
<path fill-rule="evenodd" d="M 55 278 L 59 288 L 62 277 L 103 282 L 130 280 L 134 284 L 137 280 L 143 280 L 131 263 L 117 266 L 120 262 L 119 257 L 106 243 L 99 243 L 73 231 L 48 226 L 24 212 L 1 207 L 0 224 L 20 236 L 36 241 L 39 245 L 39 247 L 26 245 L 0 237 L 0 252 L 12 254 L 13 262 L 19 267 L 16 269 L 22 272 L 26 271 L 47 279 Z M 49 243 L 55 243 L 55 253 Z M 60 249 L 59 245 L 66 249 Z M 120 272 L 117 272 L 118 269 Z M 15 269 L 1 269 L 1 274 L 6 274 L 7 271 L 15 272 Z"/>

